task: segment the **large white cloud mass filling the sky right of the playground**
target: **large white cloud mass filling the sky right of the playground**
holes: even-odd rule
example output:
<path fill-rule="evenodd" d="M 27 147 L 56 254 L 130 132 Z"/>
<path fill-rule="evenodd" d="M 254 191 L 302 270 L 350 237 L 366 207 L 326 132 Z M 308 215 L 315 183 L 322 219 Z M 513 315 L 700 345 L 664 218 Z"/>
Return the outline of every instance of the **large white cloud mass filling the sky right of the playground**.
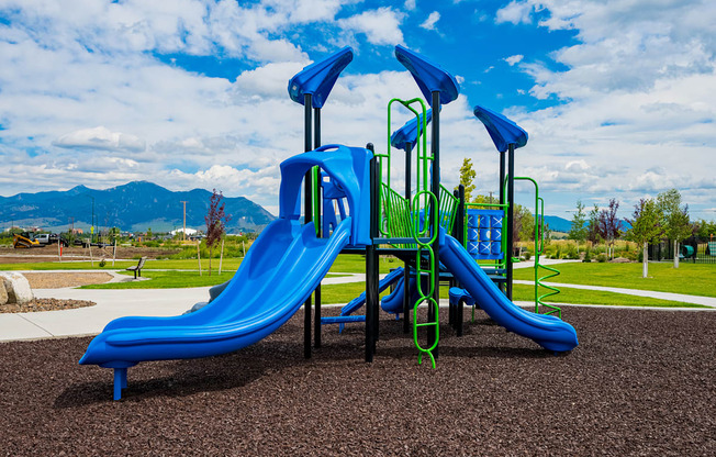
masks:
<path fill-rule="evenodd" d="M 524 164 L 547 189 L 600 203 L 618 194 L 625 213 L 670 187 L 692 209 L 713 199 L 716 181 L 696 158 L 716 144 L 716 3 L 528 0 L 495 20 L 577 31 L 551 54 L 560 69 L 506 59 L 534 78 L 533 97 L 559 101 L 513 113 L 530 133 Z"/>

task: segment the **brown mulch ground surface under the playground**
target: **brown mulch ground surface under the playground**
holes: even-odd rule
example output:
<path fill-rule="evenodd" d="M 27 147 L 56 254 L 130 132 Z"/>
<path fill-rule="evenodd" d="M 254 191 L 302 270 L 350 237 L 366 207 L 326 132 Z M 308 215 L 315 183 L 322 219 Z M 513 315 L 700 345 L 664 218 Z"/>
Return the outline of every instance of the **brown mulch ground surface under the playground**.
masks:
<path fill-rule="evenodd" d="M 372 364 L 362 361 L 359 324 L 343 335 L 324 327 L 323 347 L 305 360 L 299 312 L 233 354 L 130 368 L 120 402 L 111 370 L 77 365 L 89 338 L 3 344 L 0 449 L 716 455 L 716 313 L 568 308 L 580 346 L 563 356 L 479 314 L 461 338 L 441 326 L 432 370 L 417 366 L 412 338 L 387 315 Z"/>

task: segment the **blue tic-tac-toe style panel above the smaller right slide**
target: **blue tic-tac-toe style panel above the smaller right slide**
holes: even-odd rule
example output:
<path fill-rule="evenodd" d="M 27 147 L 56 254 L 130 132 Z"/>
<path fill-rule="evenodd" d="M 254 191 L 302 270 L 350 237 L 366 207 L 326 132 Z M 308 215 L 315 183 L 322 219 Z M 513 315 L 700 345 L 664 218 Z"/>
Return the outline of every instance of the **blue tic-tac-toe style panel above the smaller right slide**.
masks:
<path fill-rule="evenodd" d="M 478 260 L 500 260 L 502 253 L 501 210 L 468 210 L 468 254 Z"/>

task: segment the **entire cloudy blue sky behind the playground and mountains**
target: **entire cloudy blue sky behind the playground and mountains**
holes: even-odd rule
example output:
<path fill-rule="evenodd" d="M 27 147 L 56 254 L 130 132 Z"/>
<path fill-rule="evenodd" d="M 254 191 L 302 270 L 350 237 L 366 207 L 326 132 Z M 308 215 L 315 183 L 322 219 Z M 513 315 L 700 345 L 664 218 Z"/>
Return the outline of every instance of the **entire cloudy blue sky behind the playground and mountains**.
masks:
<path fill-rule="evenodd" d="M 705 0 L 0 0 L 0 194 L 144 179 L 277 213 L 278 165 L 303 145 L 288 79 L 350 45 L 323 140 L 384 149 L 387 102 L 419 94 L 402 44 L 460 81 L 441 116 L 448 187 L 471 157 L 478 191 L 496 192 L 481 104 L 529 133 L 516 174 L 549 214 L 616 198 L 627 216 L 675 187 L 716 219 L 713 23 Z"/>

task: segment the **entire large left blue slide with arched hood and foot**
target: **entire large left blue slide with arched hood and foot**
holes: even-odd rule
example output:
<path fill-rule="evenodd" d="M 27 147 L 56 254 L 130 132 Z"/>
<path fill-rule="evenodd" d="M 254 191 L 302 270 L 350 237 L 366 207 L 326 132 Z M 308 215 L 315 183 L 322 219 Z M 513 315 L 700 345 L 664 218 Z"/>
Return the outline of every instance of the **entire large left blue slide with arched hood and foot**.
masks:
<path fill-rule="evenodd" d="M 114 369 L 114 398 L 126 369 L 145 360 L 209 357 L 240 349 L 275 332 L 318 286 L 346 246 L 370 243 L 369 160 L 365 148 L 326 145 L 281 164 L 280 213 L 256 239 L 224 291 L 201 310 L 174 317 L 110 322 L 79 361 Z M 346 193 L 350 216 L 331 237 L 301 224 L 303 176 L 320 166 Z M 363 191 L 363 189 L 366 191 Z"/>

